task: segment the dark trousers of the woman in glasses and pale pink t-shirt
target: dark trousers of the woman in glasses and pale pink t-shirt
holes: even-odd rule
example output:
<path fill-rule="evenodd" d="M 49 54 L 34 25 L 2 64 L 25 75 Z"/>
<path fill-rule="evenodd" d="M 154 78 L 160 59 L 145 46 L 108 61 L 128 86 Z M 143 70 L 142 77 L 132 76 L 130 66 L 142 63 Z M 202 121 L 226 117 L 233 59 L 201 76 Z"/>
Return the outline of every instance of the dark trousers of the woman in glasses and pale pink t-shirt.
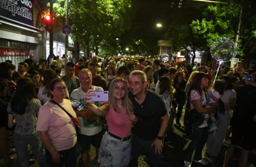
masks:
<path fill-rule="evenodd" d="M 60 163 L 58 164 L 52 161 L 52 155 L 47 149 L 45 149 L 45 153 L 46 153 L 46 158 L 50 167 L 64 167 L 64 164 L 65 164 L 65 167 L 76 167 L 77 142 L 72 148 L 59 151 L 59 153 L 63 157 L 60 157 Z"/>

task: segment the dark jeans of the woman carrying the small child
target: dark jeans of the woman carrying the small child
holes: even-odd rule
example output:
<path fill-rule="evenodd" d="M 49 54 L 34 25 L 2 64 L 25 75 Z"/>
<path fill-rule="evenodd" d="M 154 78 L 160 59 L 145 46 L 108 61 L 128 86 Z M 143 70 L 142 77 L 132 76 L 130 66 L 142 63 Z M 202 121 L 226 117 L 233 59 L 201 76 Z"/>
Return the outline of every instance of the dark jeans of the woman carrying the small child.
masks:
<path fill-rule="evenodd" d="M 193 137 L 192 140 L 190 142 L 190 144 L 188 145 L 187 149 L 186 149 L 186 155 L 185 155 L 185 161 L 187 162 L 191 162 L 191 158 L 192 158 L 192 154 L 195 151 L 194 154 L 194 160 L 201 160 L 202 159 L 202 151 L 204 148 L 204 145 L 208 139 L 208 130 L 209 130 L 209 126 L 208 127 L 204 127 L 204 128 L 199 128 L 198 126 L 201 125 L 204 121 L 204 118 L 200 118 L 197 123 L 195 124 L 191 124 L 192 129 L 193 129 Z M 209 121 L 208 121 L 209 124 Z"/>

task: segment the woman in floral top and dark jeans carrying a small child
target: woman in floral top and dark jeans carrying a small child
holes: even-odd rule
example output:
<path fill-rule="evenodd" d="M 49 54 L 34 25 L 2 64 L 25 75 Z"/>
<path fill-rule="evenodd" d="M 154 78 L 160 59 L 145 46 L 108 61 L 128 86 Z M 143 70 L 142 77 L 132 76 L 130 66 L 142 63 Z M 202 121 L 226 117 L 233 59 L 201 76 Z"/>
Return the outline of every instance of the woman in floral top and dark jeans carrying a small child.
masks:
<path fill-rule="evenodd" d="M 218 107 L 218 104 L 211 103 L 211 108 L 206 108 L 205 105 L 207 104 L 207 91 L 206 87 L 208 86 L 209 82 L 209 76 L 205 74 L 204 72 L 199 72 L 194 76 L 194 79 L 191 84 L 191 88 L 188 91 L 188 97 L 190 101 L 190 109 L 195 109 L 195 112 L 199 113 L 215 113 L 216 107 Z M 188 104 L 187 104 L 188 105 Z M 193 137 L 186 149 L 186 156 L 184 159 L 184 166 L 189 167 L 192 154 L 195 151 L 193 161 L 197 163 L 201 163 L 203 165 L 207 165 L 208 161 L 202 158 L 202 151 L 204 148 L 204 145 L 208 138 L 208 130 L 209 127 L 205 128 L 199 128 L 198 126 L 201 125 L 204 121 L 204 117 L 201 117 L 199 120 L 197 120 L 196 123 L 191 124 L 193 129 Z"/>

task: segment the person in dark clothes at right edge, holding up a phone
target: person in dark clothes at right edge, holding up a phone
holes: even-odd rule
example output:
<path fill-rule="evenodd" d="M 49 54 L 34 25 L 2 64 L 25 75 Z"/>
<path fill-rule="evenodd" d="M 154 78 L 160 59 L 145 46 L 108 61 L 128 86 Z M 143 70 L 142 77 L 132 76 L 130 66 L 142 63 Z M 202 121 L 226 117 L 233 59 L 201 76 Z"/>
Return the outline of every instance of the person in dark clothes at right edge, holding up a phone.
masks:
<path fill-rule="evenodd" d="M 237 105 L 232 118 L 232 139 L 225 154 L 223 167 L 228 167 L 238 144 L 242 147 L 239 167 L 247 166 L 249 152 L 256 144 L 256 82 L 245 82 L 247 85 L 240 85 L 236 90 Z"/>

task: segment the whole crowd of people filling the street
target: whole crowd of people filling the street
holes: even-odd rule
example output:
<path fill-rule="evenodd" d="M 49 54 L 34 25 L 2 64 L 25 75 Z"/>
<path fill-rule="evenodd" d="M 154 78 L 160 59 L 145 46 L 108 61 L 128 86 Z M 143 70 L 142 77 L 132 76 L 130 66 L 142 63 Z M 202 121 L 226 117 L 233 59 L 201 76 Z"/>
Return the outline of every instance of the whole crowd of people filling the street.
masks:
<path fill-rule="evenodd" d="M 27 151 L 30 145 L 40 167 L 75 167 L 78 152 L 88 167 L 92 145 L 101 167 L 137 167 L 142 149 L 149 166 L 159 167 L 164 144 L 171 142 L 176 109 L 176 126 L 184 128 L 184 138 L 191 138 L 185 167 L 192 161 L 208 164 L 202 155 L 205 144 L 205 156 L 215 160 L 223 142 L 229 145 L 223 167 L 229 166 L 238 145 L 239 167 L 247 166 L 255 148 L 256 81 L 254 71 L 245 71 L 242 61 L 234 68 L 221 65 L 213 71 L 199 63 L 192 67 L 161 58 L 63 60 L 57 56 L 52 64 L 45 59 L 36 64 L 30 55 L 17 71 L 9 60 L 0 63 L 4 166 L 14 160 L 9 152 L 15 152 L 19 166 L 28 167 L 33 161 Z M 92 102 L 94 91 L 108 91 L 109 100 Z M 11 131 L 15 149 L 9 149 Z"/>

